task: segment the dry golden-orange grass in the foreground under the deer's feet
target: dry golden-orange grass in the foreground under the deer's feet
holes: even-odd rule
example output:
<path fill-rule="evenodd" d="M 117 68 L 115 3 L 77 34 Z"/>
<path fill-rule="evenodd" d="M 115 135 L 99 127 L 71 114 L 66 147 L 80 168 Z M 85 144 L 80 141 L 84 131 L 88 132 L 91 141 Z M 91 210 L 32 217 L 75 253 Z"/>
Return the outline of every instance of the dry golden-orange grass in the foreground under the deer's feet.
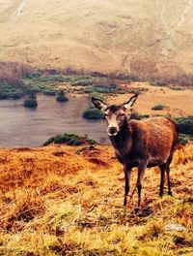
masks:
<path fill-rule="evenodd" d="M 112 146 L 80 148 L 0 149 L 0 255 L 193 255 L 193 144 L 175 154 L 174 197 L 159 199 L 147 170 L 138 211 L 136 194 L 123 208 Z M 185 231 L 166 231 L 171 221 Z"/>

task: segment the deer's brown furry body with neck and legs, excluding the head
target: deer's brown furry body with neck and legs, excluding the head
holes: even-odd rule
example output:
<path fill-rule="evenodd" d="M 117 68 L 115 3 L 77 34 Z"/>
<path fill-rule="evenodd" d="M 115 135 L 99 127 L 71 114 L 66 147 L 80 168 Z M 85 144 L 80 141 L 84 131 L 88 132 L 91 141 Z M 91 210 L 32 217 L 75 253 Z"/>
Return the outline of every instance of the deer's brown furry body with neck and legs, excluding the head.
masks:
<path fill-rule="evenodd" d="M 140 121 L 125 121 L 119 134 L 116 137 L 110 138 L 115 147 L 118 160 L 124 165 L 124 206 L 126 205 L 126 197 L 129 190 L 130 171 L 133 167 L 138 167 L 137 186 L 139 205 L 141 203 L 141 188 L 146 167 L 160 167 L 160 196 L 163 195 L 164 174 L 166 171 L 168 177 L 168 193 L 170 195 L 172 194 L 169 166 L 178 144 L 178 135 L 177 124 L 171 119 L 152 117 Z"/>

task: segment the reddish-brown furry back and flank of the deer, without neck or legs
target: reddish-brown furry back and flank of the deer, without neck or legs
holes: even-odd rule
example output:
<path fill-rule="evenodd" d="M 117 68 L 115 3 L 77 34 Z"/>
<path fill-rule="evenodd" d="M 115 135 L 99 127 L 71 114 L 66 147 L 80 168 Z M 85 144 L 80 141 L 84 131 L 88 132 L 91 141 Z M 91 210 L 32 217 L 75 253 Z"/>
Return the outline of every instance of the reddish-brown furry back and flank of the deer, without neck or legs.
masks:
<path fill-rule="evenodd" d="M 150 164 L 164 162 L 178 144 L 177 124 L 169 118 L 152 117 L 146 120 L 130 120 L 132 150 L 149 157 Z"/>

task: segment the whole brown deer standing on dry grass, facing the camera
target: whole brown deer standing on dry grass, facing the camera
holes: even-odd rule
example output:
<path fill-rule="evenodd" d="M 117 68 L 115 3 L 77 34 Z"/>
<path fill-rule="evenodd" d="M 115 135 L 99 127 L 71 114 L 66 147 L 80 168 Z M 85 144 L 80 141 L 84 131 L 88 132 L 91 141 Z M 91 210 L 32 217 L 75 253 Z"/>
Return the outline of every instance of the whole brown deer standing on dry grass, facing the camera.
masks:
<path fill-rule="evenodd" d="M 178 125 L 167 117 L 149 117 L 142 120 L 131 118 L 131 107 L 139 94 L 133 95 L 120 105 L 107 105 L 92 98 L 96 109 L 104 113 L 107 133 L 114 147 L 118 161 L 124 166 L 124 207 L 128 203 L 132 168 L 137 168 L 138 208 L 141 206 L 141 192 L 146 168 L 160 169 L 159 196 L 164 194 L 165 173 L 168 195 L 172 196 L 170 164 L 179 144 Z M 129 110 L 129 114 L 126 111 Z"/>

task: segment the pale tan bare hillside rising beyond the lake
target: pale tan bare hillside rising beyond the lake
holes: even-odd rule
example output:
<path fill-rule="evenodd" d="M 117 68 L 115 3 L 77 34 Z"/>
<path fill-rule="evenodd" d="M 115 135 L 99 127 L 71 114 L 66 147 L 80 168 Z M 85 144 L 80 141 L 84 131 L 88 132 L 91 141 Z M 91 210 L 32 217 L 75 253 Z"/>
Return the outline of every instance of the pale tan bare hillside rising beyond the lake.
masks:
<path fill-rule="evenodd" d="M 1 0 L 0 61 L 139 74 L 192 72 L 192 0 Z"/>

